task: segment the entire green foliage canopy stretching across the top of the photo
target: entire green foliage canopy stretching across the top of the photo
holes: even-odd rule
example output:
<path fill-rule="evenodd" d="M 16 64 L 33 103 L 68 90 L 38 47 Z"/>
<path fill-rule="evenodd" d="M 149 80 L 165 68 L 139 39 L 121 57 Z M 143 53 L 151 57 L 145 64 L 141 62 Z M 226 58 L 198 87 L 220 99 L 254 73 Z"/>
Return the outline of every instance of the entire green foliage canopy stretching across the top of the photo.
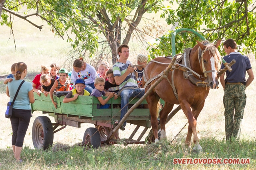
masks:
<path fill-rule="evenodd" d="M 99 45 L 102 45 L 105 48 L 101 48 L 101 54 L 110 50 L 115 63 L 120 44 L 128 44 L 132 38 L 143 37 L 148 33 L 143 28 L 146 25 L 138 27 L 143 15 L 162 10 L 161 18 L 165 18 L 168 24 L 175 25 L 175 29 L 193 29 L 211 42 L 233 38 L 239 51 L 256 51 L 255 1 L 176 0 L 179 4 L 177 9 L 174 9 L 174 0 L 170 0 L 170 6 L 167 7 L 162 2 L 163 0 L 7 0 L 0 23 L 12 27 L 13 14 L 42 29 L 43 25 L 36 25 L 29 20 L 30 16 L 38 16 L 47 21 L 52 27 L 51 31 L 63 39 L 64 35 L 68 35 L 68 30 L 71 30 L 76 36 L 71 38 L 68 35 L 66 41 L 74 49 L 78 49 L 81 55 L 88 51 L 92 57 Z M 17 12 L 23 6 L 26 6 L 27 11 L 20 15 Z M 35 12 L 30 14 L 29 10 Z M 162 37 L 158 37 L 154 44 L 143 42 L 148 47 L 151 58 L 171 54 L 172 32 L 173 30 L 163 32 Z M 144 38 L 141 41 L 142 39 Z M 189 33 L 177 35 L 176 52 L 181 53 L 186 47 L 193 47 L 196 39 L 198 38 Z"/>

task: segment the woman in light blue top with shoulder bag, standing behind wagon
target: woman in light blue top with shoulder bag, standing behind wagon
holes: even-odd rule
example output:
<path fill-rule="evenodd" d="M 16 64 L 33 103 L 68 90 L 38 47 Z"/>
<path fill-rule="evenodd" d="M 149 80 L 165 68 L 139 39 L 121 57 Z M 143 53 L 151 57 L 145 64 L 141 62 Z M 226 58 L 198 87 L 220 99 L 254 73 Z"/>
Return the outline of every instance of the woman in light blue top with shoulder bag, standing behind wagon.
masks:
<path fill-rule="evenodd" d="M 10 102 L 13 101 L 14 96 L 27 75 L 27 65 L 25 63 L 17 63 L 15 67 L 16 74 L 15 79 L 12 82 L 8 82 L 6 88 L 6 94 L 10 97 Z M 24 137 L 28 130 L 28 125 L 31 117 L 30 103 L 34 103 L 33 87 L 30 82 L 24 82 L 18 92 L 17 98 L 14 102 L 12 109 L 12 117 L 10 118 L 12 124 L 12 150 L 14 157 L 18 162 L 22 162 L 20 159 L 20 153 L 23 146 Z"/>

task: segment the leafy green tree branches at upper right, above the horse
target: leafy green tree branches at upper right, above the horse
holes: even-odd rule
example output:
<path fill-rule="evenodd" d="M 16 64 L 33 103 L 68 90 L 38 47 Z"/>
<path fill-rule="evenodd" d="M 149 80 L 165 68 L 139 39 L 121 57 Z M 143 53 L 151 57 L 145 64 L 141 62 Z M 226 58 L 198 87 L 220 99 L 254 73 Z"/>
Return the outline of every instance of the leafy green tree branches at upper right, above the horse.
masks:
<path fill-rule="evenodd" d="M 190 28 L 204 35 L 211 42 L 232 38 L 238 44 L 238 50 L 248 53 L 256 51 L 255 1 L 252 0 L 182 0 L 179 8 L 167 8 L 161 14 L 168 24 L 178 23 L 178 28 Z M 169 13 L 170 12 L 170 13 Z M 148 47 L 151 57 L 170 55 L 171 34 L 169 31 Z M 196 37 L 189 33 L 176 36 L 176 53 L 182 53 L 187 47 L 196 44 Z M 222 52 L 223 54 L 223 52 Z"/>

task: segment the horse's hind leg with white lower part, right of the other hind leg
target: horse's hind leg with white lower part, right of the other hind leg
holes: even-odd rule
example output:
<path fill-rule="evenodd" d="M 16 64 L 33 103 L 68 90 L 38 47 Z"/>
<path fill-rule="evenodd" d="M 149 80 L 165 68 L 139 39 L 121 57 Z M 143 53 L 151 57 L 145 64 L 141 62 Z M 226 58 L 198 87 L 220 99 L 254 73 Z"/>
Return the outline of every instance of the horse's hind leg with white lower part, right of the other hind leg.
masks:
<path fill-rule="evenodd" d="M 160 123 L 161 123 L 161 140 L 167 138 L 165 131 L 165 122 L 168 114 L 172 111 L 174 104 L 165 102 L 163 109 L 160 111 Z"/>

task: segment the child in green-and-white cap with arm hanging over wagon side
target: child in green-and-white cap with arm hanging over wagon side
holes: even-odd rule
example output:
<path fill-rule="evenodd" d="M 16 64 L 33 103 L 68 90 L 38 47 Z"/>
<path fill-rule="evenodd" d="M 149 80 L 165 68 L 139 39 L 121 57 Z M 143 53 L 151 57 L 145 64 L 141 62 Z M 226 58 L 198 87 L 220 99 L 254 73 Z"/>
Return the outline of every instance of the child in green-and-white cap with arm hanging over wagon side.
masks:
<path fill-rule="evenodd" d="M 54 107 L 57 109 L 57 103 L 54 102 L 52 93 L 54 91 L 69 91 L 70 83 L 68 80 L 68 70 L 66 68 L 62 68 L 59 71 L 60 78 L 55 80 L 51 90 L 50 90 L 50 98 L 52 100 L 52 103 Z"/>

